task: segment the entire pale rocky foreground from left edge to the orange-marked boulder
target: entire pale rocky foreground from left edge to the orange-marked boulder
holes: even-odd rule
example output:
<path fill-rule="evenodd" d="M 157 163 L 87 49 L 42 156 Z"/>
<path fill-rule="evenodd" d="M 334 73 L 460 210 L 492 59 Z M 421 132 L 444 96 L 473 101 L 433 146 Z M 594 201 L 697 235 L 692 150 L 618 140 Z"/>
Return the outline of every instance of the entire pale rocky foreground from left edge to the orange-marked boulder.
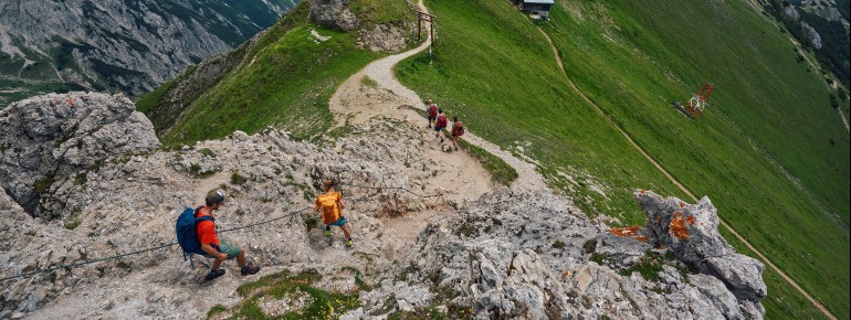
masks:
<path fill-rule="evenodd" d="M 103 95 L 70 97 L 81 109 L 91 108 L 84 103 L 98 99 L 125 102 Z M 67 104 L 51 106 L 52 114 L 73 114 Z M 97 113 L 103 115 L 101 119 L 122 118 L 119 111 Z M 42 119 L 43 114 L 7 110 L 3 115 L 20 120 L 24 115 Z M 60 129 L 86 118 L 63 119 L 69 120 Z M 28 132 L 20 126 L 30 122 L 9 126 Z M 149 124 L 146 127 L 149 131 Z M 91 163 L 84 162 L 88 157 L 52 156 L 104 156 L 99 149 L 85 147 L 94 141 L 85 137 L 99 131 L 71 135 L 82 142 L 65 147 L 66 141 L 55 143 L 46 138 L 42 138 L 44 143 L 28 146 L 38 150 L 50 146 L 49 151 L 36 152 L 51 156 L 38 158 L 39 163 L 52 161 L 56 168 L 65 168 L 56 172 L 65 172 Z M 211 189 L 225 190 L 229 199 L 217 213 L 217 225 L 224 230 L 220 236 L 242 246 L 252 264 L 264 266 L 263 275 L 284 268 L 309 269 L 326 275 L 317 285 L 324 290 L 359 290 L 358 308 L 339 314 L 340 319 L 384 319 L 396 312 L 426 314 L 422 312 L 432 310 L 450 319 L 761 317 L 760 281 L 747 268 L 729 265 L 747 260 L 728 247 L 701 248 L 726 244 L 708 230 L 717 225 L 706 213 L 714 210 L 708 200 L 681 206 L 676 200 L 639 198 L 645 207 L 656 209 L 651 216 L 660 216 L 664 225 L 679 225 L 672 210 L 682 211 L 683 230 L 609 232 L 559 195 L 508 189 L 485 193 L 485 188 L 492 188 L 488 181 L 453 182 L 459 172 L 445 173 L 452 169 L 435 166 L 435 156 L 449 154 L 439 151 L 440 146 L 430 138 L 421 128 L 376 119 L 322 147 L 269 129 L 252 136 L 235 131 L 225 139 L 180 150 L 112 156 L 99 166 L 63 175 L 66 178 L 45 190 L 39 202 L 44 212 L 73 209 L 50 221 L 28 215 L 15 202 L 7 201 L 13 192 L 2 192 L 0 277 L 55 269 L 0 282 L 0 318 L 199 318 L 216 305 L 239 305 L 242 298 L 235 288 L 256 278 L 239 277 L 235 265 L 225 262 L 224 277 L 214 285 L 199 284 L 209 262 L 196 257 L 198 268 L 192 270 L 178 247 L 168 246 L 175 241 L 172 228 L 179 212 L 198 204 Z M 120 135 L 109 139 L 129 140 Z M 115 142 L 101 141 L 122 148 L 109 143 Z M 72 146 L 78 150 L 53 152 Z M 10 171 L 4 170 L 4 174 Z M 323 178 L 343 182 L 345 214 L 356 239 L 353 249 L 344 248 L 336 230 L 334 236 L 325 237 L 322 224 L 308 213 Z M 443 189 L 446 185 L 454 188 Z M 479 188 L 483 191 L 471 193 Z M 694 215 L 706 215 L 706 220 L 695 217 L 690 224 Z M 700 230 L 701 222 L 705 232 Z M 417 224 L 420 226 L 413 227 Z M 246 225 L 254 226 L 227 231 Z M 413 239 L 413 234 L 406 234 L 412 231 L 422 232 Z M 689 235 L 685 239 L 680 238 L 683 232 Z M 660 248 L 660 241 L 670 242 L 668 248 Z M 698 253 L 722 255 L 707 257 L 700 269 L 686 263 L 700 257 Z M 363 274 L 354 276 L 353 270 Z M 203 299 L 198 298 L 199 291 L 204 292 Z M 280 314 L 287 306 L 271 296 L 261 303 L 270 314 Z"/>

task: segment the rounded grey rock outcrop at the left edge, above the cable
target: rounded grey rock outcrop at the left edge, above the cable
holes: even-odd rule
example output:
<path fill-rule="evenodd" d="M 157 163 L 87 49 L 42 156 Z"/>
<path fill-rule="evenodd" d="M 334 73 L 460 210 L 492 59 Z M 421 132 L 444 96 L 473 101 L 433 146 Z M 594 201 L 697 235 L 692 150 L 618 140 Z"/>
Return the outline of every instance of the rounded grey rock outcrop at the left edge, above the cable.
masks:
<path fill-rule="evenodd" d="M 0 110 L 0 186 L 27 212 L 67 214 L 50 190 L 125 152 L 159 147 L 150 121 L 124 96 L 50 94 Z M 42 201 L 49 199 L 52 204 Z M 41 203 L 41 205 L 40 205 Z"/>

